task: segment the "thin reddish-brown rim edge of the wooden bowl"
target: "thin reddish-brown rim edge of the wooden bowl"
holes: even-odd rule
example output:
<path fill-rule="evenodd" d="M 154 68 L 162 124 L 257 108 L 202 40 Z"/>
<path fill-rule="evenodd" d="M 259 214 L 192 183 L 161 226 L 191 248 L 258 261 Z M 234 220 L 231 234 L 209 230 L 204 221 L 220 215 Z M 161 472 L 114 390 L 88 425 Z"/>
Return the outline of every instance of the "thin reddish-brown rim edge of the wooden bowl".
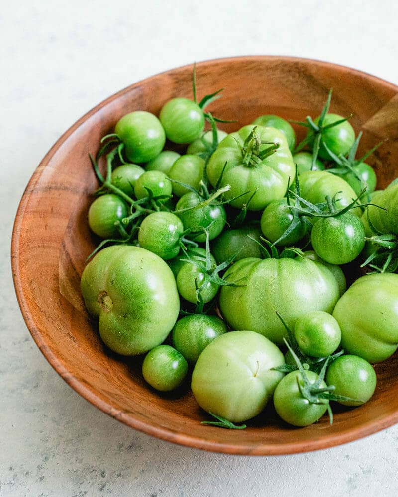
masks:
<path fill-rule="evenodd" d="M 340 72 L 346 72 L 349 74 L 355 74 L 357 76 L 365 76 L 368 80 L 371 80 L 375 83 L 387 85 L 391 90 L 395 91 L 398 94 L 398 86 L 394 83 L 388 82 L 382 78 L 378 78 L 370 73 L 360 71 L 358 69 L 350 68 L 348 66 L 335 64 L 332 62 L 322 61 L 318 59 L 310 59 L 303 57 L 291 57 L 291 56 L 280 56 L 280 55 L 248 55 L 248 56 L 234 56 L 234 57 L 220 57 L 216 59 L 203 60 L 197 62 L 197 67 L 201 65 L 211 65 L 218 64 L 220 62 L 228 62 L 228 61 L 236 61 L 239 59 L 248 59 L 252 61 L 266 62 L 271 60 L 280 60 L 281 62 L 300 62 L 300 63 L 316 63 L 317 65 L 324 66 L 331 69 L 336 69 Z M 357 428 L 350 428 L 346 431 L 339 432 L 338 435 L 332 434 L 329 436 L 322 436 L 319 439 L 312 440 L 307 444 L 303 445 L 302 442 L 291 442 L 285 444 L 273 444 L 273 443 L 263 443 L 259 445 L 250 445 L 244 444 L 236 445 L 233 443 L 221 443 L 209 440 L 203 440 L 196 436 L 190 436 L 184 433 L 174 432 L 172 430 L 163 428 L 161 426 L 154 426 L 152 424 L 133 419 L 129 415 L 123 413 L 123 411 L 115 409 L 111 404 L 103 401 L 98 397 L 92 390 L 85 386 L 84 382 L 79 381 L 73 374 L 71 374 L 66 367 L 58 360 L 56 355 L 53 354 L 51 349 L 47 346 L 45 339 L 40 333 L 40 330 L 36 327 L 34 323 L 34 319 L 31 315 L 28 301 L 25 297 L 25 294 L 22 289 L 22 280 L 20 277 L 20 261 L 19 261 L 19 235 L 21 232 L 21 226 L 24 218 L 24 213 L 28 203 L 29 193 L 34 189 L 35 185 L 39 181 L 45 166 L 49 163 L 50 159 L 55 155 L 58 149 L 61 148 L 64 142 L 75 132 L 76 129 L 80 127 L 86 120 L 95 115 L 101 108 L 108 105 L 113 100 L 119 98 L 124 93 L 131 91 L 136 86 L 141 86 L 145 84 L 148 80 L 151 80 L 154 77 L 160 76 L 162 74 L 169 73 L 170 71 L 183 70 L 189 67 L 192 67 L 193 64 L 185 64 L 183 66 L 179 66 L 176 68 L 171 68 L 161 73 L 157 73 L 155 75 L 151 75 L 144 80 L 140 80 L 136 83 L 132 83 L 129 86 L 117 91 L 112 94 L 108 98 L 102 100 L 98 105 L 89 110 L 86 114 L 84 114 L 80 119 L 78 119 L 65 133 L 61 135 L 61 137 L 54 143 L 54 145 L 50 148 L 47 154 L 40 161 L 40 164 L 34 170 L 25 190 L 22 194 L 21 200 L 18 205 L 18 209 L 15 215 L 13 230 L 12 230 L 12 238 L 11 238 L 11 268 L 12 268 L 12 277 L 14 282 L 15 293 L 17 297 L 17 301 L 19 307 L 21 309 L 21 313 L 25 324 L 32 335 L 33 340 L 36 345 L 40 349 L 41 353 L 44 355 L 46 360 L 50 363 L 50 365 L 55 369 L 55 371 L 63 378 L 66 383 L 73 388 L 78 394 L 80 394 L 84 399 L 90 402 L 93 406 L 99 408 L 104 413 L 114 417 L 118 421 L 123 422 L 124 424 L 134 428 L 136 430 L 142 431 L 148 435 L 154 436 L 156 438 L 163 439 L 168 442 L 173 442 L 179 445 L 193 447 L 197 449 L 207 450 L 210 452 L 217 453 L 225 453 L 225 454 L 240 454 L 240 455 L 286 455 L 286 454 L 295 454 L 302 452 L 309 452 L 320 450 L 324 448 L 331 448 L 337 445 L 341 445 L 347 442 L 351 442 L 353 440 L 365 437 L 367 435 L 371 435 L 380 430 L 388 428 L 393 424 L 398 422 L 398 411 L 396 413 L 390 414 L 382 420 L 373 421 L 372 419 L 369 422 L 363 423 L 361 426 Z"/>

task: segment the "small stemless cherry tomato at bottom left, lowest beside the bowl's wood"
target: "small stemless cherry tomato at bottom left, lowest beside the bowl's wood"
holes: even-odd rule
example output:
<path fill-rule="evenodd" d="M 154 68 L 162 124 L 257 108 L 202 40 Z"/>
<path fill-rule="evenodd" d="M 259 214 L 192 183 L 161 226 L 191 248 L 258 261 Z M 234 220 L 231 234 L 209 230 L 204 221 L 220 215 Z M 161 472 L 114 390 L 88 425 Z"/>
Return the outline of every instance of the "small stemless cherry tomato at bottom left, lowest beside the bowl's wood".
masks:
<path fill-rule="evenodd" d="M 187 375 L 188 363 L 170 345 L 158 345 L 150 350 L 142 363 L 142 376 L 151 387 L 170 392 L 179 387 Z"/>

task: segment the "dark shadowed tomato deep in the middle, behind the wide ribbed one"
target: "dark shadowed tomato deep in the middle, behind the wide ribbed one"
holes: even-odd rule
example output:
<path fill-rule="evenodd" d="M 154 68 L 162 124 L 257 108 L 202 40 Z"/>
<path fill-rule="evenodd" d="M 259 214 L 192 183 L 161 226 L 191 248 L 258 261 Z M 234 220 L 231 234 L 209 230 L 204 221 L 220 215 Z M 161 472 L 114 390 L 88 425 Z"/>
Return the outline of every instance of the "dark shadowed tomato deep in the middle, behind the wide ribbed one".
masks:
<path fill-rule="evenodd" d="M 211 244 L 217 264 L 225 262 L 227 259 L 236 255 L 234 262 L 247 257 L 261 258 L 261 248 L 251 240 L 254 238 L 260 242 L 260 230 L 255 226 L 242 226 L 234 230 L 224 230 Z"/>

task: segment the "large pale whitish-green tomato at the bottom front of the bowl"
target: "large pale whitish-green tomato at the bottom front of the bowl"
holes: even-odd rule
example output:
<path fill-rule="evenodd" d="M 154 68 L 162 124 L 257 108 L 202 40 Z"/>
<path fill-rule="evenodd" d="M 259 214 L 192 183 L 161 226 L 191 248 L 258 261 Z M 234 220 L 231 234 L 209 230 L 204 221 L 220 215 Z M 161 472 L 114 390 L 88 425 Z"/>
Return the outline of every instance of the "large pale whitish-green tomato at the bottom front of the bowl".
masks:
<path fill-rule="evenodd" d="M 282 352 L 253 331 L 231 331 L 213 340 L 192 373 L 199 406 L 232 422 L 250 419 L 265 408 L 283 373 Z"/>

